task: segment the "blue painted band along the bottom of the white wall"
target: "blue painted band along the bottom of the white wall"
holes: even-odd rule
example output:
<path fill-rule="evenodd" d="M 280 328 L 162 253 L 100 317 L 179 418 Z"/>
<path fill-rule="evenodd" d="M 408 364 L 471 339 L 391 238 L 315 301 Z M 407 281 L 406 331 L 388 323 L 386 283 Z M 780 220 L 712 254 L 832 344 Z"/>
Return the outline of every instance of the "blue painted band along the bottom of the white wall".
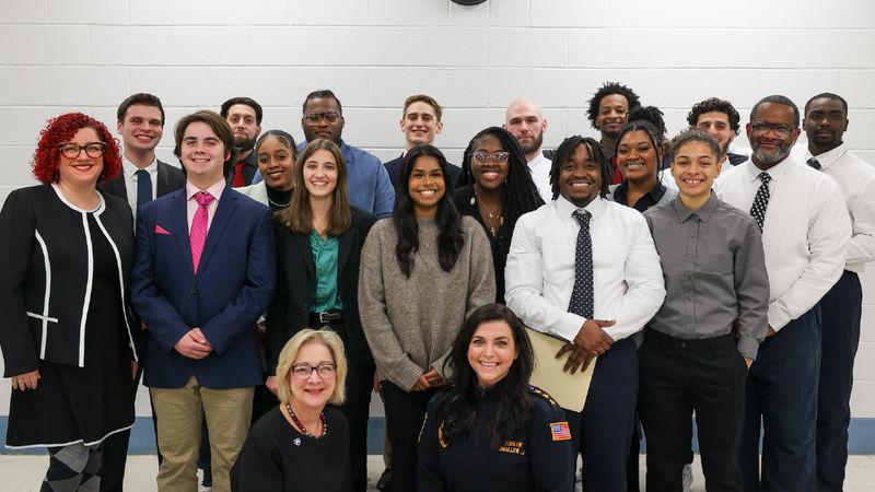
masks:
<path fill-rule="evenodd" d="M 8 417 L 0 417 L 0 434 L 7 433 Z M 368 422 L 368 453 L 378 455 L 383 453 L 383 417 L 373 417 Z M 849 442 L 848 452 L 852 455 L 875 455 L 875 419 L 851 419 L 851 426 L 848 431 Z M 698 450 L 698 443 L 695 441 L 693 449 Z M 641 452 L 646 449 L 646 443 L 642 443 Z M 39 455 L 45 449 L 8 449 L 0 448 L 3 455 Z M 138 417 L 133 423 L 130 435 L 128 453 L 131 455 L 151 455 L 155 453 L 155 434 L 152 430 L 152 419 L 149 417 Z"/>

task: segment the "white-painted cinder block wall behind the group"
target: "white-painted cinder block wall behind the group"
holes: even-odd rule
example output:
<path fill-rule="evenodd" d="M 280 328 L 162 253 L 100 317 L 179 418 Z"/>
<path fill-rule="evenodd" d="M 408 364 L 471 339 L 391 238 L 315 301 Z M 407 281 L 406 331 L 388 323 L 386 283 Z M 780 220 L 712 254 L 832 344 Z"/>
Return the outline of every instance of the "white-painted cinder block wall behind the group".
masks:
<path fill-rule="evenodd" d="M 0 201 L 34 184 L 47 117 L 84 110 L 113 128 L 133 92 L 164 102 L 159 155 L 176 163 L 178 117 L 237 95 L 265 106 L 265 130 L 301 138 L 305 94 L 330 87 L 345 139 L 388 159 L 402 147 L 401 103 L 425 92 L 446 108 L 436 143 L 459 162 L 518 96 L 541 104 L 555 147 L 595 134 L 584 105 L 606 80 L 661 107 L 673 133 L 709 96 L 744 121 L 767 94 L 803 105 L 830 91 L 850 104 L 845 141 L 875 163 L 875 3 L 862 0 L 0 0 Z M 852 405 L 875 418 L 875 271 L 864 282 Z M 0 414 L 8 391 L 3 379 Z"/>

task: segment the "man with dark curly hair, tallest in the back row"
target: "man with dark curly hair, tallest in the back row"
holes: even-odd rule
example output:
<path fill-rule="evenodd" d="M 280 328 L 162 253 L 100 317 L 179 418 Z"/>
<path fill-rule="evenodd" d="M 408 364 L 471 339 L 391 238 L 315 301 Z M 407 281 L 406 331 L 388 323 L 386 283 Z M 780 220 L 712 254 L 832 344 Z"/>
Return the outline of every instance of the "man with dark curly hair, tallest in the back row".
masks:
<path fill-rule="evenodd" d="M 614 154 L 617 148 L 617 137 L 626 125 L 629 112 L 641 106 L 638 94 L 626 85 L 617 82 L 605 82 L 598 87 L 593 98 L 590 99 L 586 117 L 590 124 L 602 132 L 602 153 L 610 163 L 610 185 L 622 183 L 622 174 L 617 167 Z"/>

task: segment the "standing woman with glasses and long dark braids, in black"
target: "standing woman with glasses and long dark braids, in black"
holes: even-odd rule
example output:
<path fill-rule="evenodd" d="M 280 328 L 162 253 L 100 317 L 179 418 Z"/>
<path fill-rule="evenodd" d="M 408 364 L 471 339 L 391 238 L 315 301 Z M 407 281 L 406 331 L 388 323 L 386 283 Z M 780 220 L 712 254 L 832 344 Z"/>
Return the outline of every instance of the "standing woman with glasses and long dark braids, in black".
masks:
<path fill-rule="evenodd" d="M 499 127 L 487 128 L 465 149 L 453 201 L 462 215 L 483 227 L 492 247 L 495 302 L 504 303 L 504 263 L 520 215 L 544 204 L 516 138 Z"/>

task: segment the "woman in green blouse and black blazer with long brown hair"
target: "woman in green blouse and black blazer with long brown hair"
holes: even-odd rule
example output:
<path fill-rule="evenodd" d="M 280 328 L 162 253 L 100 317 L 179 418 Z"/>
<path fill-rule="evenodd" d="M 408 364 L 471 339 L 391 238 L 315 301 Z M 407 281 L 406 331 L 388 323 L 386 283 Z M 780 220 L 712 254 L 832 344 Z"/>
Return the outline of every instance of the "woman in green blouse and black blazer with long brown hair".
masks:
<path fill-rule="evenodd" d="M 282 347 L 304 328 L 330 329 L 347 352 L 346 402 L 354 491 L 364 491 L 374 360 L 359 319 L 359 263 L 373 215 L 349 204 L 347 167 L 330 140 L 307 144 L 294 166 L 291 204 L 277 218 L 277 293 L 267 314 L 267 386 Z"/>

